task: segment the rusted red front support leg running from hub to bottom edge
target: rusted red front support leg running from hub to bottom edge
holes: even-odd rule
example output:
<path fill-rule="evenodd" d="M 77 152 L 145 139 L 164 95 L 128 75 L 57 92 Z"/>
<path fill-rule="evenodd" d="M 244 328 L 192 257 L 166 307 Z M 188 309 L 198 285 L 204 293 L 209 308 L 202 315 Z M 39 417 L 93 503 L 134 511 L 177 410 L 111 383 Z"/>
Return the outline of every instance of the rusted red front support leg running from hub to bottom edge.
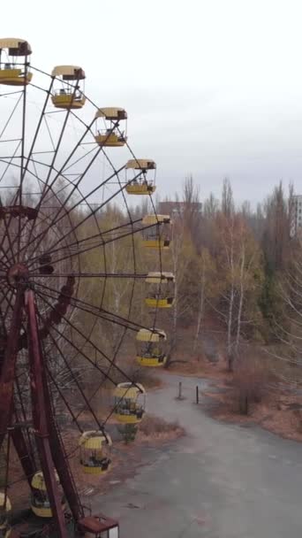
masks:
<path fill-rule="evenodd" d="M 57 486 L 54 462 L 51 456 L 49 444 L 48 418 L 45 408 L 46 395 L 44 393 L 44 384 L 42 380 L 42 350 L 39 342 L 34 293 L 32 290 L 26 291 L 25 302 L 28 318 L 28 357 L 31 371 L 33 419 L 36 442 L 42 464 L 42 473 L 44 475 L 44 480 L 49 495 L 51 511 L 57 524 L 57 534 L 60 538 L 67 538 L 61 496 Z"/>

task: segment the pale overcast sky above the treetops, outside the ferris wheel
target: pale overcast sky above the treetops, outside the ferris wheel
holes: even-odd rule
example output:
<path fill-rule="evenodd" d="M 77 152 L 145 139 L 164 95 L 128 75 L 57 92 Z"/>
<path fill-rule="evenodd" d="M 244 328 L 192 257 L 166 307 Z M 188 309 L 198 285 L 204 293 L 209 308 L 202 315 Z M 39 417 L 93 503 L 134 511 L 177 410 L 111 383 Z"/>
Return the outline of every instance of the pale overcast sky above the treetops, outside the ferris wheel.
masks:
<path fill-rule="evenodd" d="M 128 111 L 129 142 L 158 165 L 161 195 L 193 173 L 253 202 L 277 181 L 302 192 L 302 3 L 291 0 L 15 0 L 3 37 L 32 63 L 81 65 L 100 106 Z"/>

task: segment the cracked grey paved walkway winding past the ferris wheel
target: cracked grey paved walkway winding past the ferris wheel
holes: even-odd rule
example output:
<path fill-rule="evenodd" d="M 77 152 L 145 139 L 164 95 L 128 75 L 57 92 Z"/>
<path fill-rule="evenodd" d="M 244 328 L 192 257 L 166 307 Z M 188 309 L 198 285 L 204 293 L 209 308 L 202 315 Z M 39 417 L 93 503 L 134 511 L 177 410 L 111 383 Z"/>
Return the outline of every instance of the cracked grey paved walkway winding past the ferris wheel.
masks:
<path fill-rule="evenodd" d="M 147 409 L 178 419 L 187 435 L 147 449 L 148 464 L 100 498 L 98 509 L 120 520 L 120 538 L 301 538 L 302 446 L 210 419 L 193 404 L 202 380 L 164 379 Z"/>

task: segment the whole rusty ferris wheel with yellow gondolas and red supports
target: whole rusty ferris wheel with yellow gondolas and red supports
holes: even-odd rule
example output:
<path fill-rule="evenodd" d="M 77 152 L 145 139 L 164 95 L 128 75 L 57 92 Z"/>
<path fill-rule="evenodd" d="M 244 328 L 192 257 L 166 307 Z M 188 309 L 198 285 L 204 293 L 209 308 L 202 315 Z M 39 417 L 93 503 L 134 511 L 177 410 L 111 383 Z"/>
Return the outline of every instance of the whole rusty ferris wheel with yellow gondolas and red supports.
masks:
<path fill-rule="evenodd" d="M 171 222 L 155 210 L 156 165 L 135 157 L 126 111 L 94 104 L 79 65 L 48 74 L 31 54 L 0 39 L 0 536 L 117 538 L 117 521 L 84 506 L 70 462 L 106 473 L 109 419 L 143 418 L 146 391 L 125 358 L 136 342 L 138 367 L 165 364 Z M 147 214 L 134 196 L 147 196 Z"/>

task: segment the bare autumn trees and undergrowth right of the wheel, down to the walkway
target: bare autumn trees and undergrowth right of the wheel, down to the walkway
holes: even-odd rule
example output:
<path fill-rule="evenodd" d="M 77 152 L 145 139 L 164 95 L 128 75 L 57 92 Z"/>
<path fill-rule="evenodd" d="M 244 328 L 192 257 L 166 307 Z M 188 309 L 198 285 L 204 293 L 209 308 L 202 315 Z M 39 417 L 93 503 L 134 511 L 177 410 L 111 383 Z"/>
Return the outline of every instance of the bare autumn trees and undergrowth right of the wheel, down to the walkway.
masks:
<path fill-rule="evenodd" d="M 281 182 L 257 207 L 237 206 L 225 180 L 221 199 L 210 195 L 200 209 L 199 189 L 192 178 L 185 181 L 171 247 L 177 288 L 170 364 L 183 356 L 195 372 L 201 361 L 202 373 L 210 319 L 220 332 L 215 370 L 223 357 L 231 373 L 225 409 L 261 419 L 261 409 L 272 410 L 275 417 L 276 403 L 292 396 L 299 428 L 293 389 L 302 380 L 302 250 L 299 233 L 290 234 L 293 196 Z"/>

